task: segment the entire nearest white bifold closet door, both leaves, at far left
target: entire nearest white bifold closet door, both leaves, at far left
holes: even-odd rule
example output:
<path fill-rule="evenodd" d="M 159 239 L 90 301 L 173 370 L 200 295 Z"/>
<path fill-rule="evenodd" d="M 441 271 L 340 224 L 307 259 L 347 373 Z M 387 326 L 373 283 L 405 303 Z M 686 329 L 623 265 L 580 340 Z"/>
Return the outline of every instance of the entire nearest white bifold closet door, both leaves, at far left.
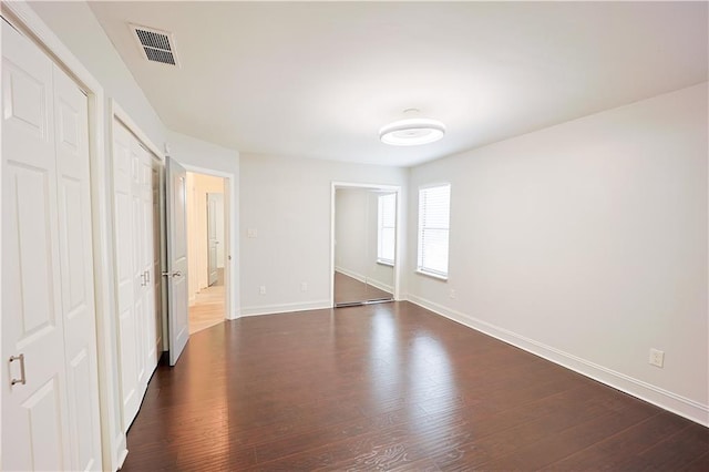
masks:
<path fill-rule="evenodd" d="M 86 96 L 1 28 L 1 466 L 100 470 Z"/>

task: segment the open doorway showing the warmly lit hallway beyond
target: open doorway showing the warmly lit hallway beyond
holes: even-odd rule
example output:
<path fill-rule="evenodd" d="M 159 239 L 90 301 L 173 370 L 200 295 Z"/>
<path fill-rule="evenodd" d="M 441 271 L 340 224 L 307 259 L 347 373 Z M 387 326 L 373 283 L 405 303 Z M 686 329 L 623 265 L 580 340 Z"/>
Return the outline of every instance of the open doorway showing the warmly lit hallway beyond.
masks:
<path fill-rule="evenodd" d="M 187 172 L 189 334 L 226 317 L 225 182 Z"/>

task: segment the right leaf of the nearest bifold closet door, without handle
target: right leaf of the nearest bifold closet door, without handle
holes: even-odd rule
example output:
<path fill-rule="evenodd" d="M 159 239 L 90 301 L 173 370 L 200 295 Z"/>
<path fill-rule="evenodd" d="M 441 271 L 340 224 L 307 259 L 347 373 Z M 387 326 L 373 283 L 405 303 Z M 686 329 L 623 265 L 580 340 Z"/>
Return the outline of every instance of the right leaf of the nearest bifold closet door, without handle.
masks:
<path fill-rule="evenodd" d="M 74 443 L 72 466 L 78 470 L 100 470 L 89 103 L 76 84 L 56 66 L 54 117 L 69 425 Z"/>

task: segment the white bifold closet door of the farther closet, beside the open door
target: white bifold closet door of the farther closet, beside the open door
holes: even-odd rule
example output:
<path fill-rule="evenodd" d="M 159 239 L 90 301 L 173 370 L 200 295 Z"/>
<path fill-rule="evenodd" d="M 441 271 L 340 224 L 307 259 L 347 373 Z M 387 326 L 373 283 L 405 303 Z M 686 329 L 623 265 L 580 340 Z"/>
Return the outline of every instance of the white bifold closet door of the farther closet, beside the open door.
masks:
<path fill-rule="evenodd" d="M 113 126 L 113 203 L 115 279 L 119 312 L 119 359 L 123 425 L 127 429 L 157 366 L 162 326 L 156 320 L 155 172 L 153 155 L 120 122 Z M 160 175 L 160 173 L 157 174 Z"/>

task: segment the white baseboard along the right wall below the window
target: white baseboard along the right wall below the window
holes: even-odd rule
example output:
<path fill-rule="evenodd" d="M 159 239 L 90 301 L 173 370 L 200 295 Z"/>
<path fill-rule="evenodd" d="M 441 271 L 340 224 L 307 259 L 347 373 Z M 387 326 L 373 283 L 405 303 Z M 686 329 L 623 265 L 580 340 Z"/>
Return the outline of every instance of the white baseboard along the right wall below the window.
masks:
<path fill-rule="evenodd" d="M 564 352 L 559 349 L 537 342 L 507 329 L 496 327 L 490 322 L 470 315 L 453 310 L 436 302 L 409 294 L 407 299 L 438 315 L 460 322 L 469 328 L 500 339 L 535 356 L 540 356 L 554 363 L 563 366 L 583 376 L 589 377 L 633 397 L 656 404 L 672 413 L 685 417 L 705 427 L 709 427 L 709 406 L 701 404 L 677 393 L 647 383 L 643 380 L 616 372 L 615 370 Z"/>

